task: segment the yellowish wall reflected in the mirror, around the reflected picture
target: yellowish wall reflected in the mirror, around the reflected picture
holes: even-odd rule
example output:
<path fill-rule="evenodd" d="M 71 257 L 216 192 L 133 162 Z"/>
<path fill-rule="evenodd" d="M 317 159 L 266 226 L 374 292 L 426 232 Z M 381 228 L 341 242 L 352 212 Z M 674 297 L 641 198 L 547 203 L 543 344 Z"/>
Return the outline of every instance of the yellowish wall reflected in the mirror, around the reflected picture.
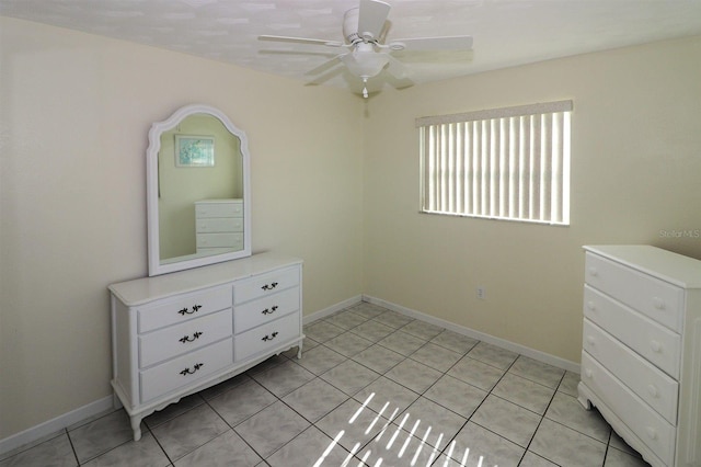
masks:
<path fill-rule="evenodd" d="M 212 138 L 214 167 L 179 163 L 176 136 L 180 135 Z M 174 129 L 161 134 L 158 158 L 161 261 L 197 253 L 196 202 L 243 197 L 240 143 L 218 118 L 207 114 L 189 115 Z"/>

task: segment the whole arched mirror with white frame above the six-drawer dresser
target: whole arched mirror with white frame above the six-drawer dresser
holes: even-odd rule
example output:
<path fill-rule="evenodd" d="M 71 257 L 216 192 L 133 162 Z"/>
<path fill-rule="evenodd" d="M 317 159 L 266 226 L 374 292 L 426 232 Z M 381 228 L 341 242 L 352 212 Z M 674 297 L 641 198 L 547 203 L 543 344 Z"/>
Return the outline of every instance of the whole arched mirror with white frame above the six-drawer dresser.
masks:
<path fill-rule="evenodd" d="M 251 254 L 249 170 L 245 133 L 217 109 L 187 105 L 151 125 L 150 276 Z"/>

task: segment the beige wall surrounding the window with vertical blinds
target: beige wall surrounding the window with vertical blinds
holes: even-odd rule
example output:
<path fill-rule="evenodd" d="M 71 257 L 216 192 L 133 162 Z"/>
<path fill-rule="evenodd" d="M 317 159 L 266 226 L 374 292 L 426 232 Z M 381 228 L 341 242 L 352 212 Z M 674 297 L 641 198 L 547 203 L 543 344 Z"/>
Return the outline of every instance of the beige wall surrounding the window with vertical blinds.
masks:
<path fill-rule="evenodd" d="M 579 362 L 583 244 L 701 259 L 700 77 L 696 37 L 379 94 L 365 128 L 365 293 Z M 418 214 L 415 117 L 563 99 L 570 227 Z"/>

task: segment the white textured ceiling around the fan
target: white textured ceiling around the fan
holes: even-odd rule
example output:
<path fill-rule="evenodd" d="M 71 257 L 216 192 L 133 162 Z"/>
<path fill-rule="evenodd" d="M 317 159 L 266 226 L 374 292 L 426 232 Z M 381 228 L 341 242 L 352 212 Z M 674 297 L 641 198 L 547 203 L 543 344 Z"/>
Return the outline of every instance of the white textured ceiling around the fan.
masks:
<path fill-rule="evenodd" d="M 472 35 L 472 54 L 405 59 L 422 83 L 568 55 L 701 35 L 701 0 L 388 0 L 387 37 Z M 343 41 L 357 0 L 0 0 L 0 14 L 229 61 L 358 91 L 322 69 L 337 48 L 279 44 L 261 34 Z M 1 46 L 1 45 L 0 45 Z M 310 70 L 321 71 L 310 75 Z M 300 84 L 301 84 L 300 83 Z M 371 90 L 399 86 L 388 73 Z"/>

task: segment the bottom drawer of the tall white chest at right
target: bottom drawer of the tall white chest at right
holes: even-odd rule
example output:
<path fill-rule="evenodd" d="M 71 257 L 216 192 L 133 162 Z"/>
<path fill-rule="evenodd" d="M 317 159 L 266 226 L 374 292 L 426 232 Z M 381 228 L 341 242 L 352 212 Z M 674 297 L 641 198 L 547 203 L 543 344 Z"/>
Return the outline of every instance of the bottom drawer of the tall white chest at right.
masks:
<path fill-rule="evenodd" d="M 641 398 L 604 368 L 587 352 L 582 352 L 582 381 L 645 443 L 666 465 L 673 465 L 675 428 Z"/>

